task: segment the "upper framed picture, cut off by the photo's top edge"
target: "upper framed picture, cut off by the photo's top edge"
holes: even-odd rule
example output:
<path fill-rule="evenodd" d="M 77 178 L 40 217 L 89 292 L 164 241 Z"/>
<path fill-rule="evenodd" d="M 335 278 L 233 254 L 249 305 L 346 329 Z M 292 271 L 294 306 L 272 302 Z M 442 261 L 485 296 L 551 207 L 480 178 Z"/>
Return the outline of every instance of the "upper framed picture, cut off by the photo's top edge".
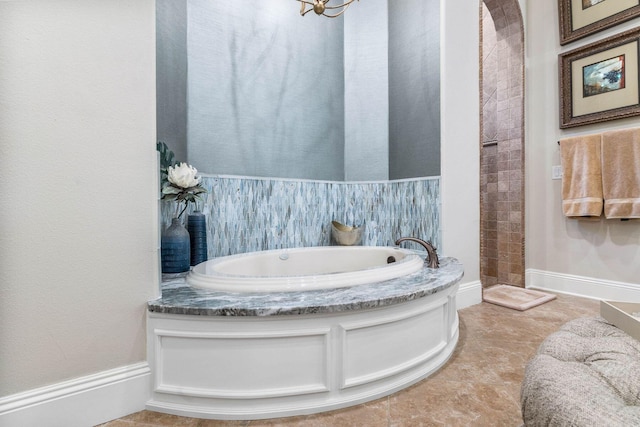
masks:
<path fill-rule="evenodd" d="M 640 0 L 558 0 L 560 44 L 640 16 Z"/>

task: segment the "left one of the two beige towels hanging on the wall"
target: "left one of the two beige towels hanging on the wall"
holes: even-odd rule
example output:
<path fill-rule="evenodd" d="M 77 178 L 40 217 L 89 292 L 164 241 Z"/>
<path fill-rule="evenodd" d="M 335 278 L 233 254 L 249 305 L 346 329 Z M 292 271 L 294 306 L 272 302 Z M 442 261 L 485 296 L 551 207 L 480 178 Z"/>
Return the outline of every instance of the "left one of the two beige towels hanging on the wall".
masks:
<path fill-rule="evenodd" d="M 601 135 L 560 141 L 562 212 L 568 218 L 597 219 L 602 215 Z"/>

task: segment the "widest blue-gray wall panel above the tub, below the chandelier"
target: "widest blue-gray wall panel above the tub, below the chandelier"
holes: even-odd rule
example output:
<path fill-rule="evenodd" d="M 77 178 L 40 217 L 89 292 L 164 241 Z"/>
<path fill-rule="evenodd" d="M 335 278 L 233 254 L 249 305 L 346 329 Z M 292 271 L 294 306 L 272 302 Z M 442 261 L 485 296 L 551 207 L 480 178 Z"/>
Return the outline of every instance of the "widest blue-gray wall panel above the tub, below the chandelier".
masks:
<path fill-rule="evenodd" d="M 344 179 L 343 20 L 290 2 L 188 1 L 189 161 Z"/>

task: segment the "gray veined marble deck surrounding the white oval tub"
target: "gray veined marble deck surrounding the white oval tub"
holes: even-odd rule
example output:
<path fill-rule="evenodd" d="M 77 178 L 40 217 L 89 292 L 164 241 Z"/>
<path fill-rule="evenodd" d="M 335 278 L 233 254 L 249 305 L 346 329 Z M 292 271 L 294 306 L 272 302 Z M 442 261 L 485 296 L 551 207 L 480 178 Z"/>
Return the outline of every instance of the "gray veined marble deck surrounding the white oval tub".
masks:
<path fill-rule="evenodd" d="M 384 307 L 422 298 L 454 286 L 462 279 L 462 264 L 440 259 L 440 268 L 397 279 L 300 292 L 230 293 L 191 287 L 186 274 L 164 275 L 162 296 L 147 304 L 149 312 L 197 316 L 276 316 L 337 313 Z"/>

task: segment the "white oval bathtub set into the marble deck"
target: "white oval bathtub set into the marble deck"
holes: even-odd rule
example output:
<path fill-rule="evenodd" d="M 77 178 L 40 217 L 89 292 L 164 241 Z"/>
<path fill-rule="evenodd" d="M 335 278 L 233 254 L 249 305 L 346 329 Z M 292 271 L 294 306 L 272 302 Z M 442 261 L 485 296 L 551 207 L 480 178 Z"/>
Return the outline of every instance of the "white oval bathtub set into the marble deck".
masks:
<path fill-rule="evenodd" d="M 196 265 L 191 286 L 224 292 L 296 292 L 381 282 L 415 273 L 423 260 L 387 246 L 277 249 L 215 258 Z"/>

